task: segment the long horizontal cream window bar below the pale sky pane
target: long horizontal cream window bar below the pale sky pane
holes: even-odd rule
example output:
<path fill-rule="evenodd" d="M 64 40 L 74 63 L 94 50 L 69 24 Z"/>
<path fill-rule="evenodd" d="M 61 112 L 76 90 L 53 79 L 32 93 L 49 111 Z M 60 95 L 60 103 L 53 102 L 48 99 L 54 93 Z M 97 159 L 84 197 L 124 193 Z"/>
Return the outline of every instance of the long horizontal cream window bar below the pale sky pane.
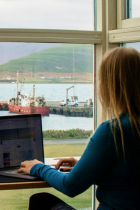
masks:
<path fill-rule="evenodd" d="M 0 42 L 99 44 L 101 31 L 0 29 Z"/>

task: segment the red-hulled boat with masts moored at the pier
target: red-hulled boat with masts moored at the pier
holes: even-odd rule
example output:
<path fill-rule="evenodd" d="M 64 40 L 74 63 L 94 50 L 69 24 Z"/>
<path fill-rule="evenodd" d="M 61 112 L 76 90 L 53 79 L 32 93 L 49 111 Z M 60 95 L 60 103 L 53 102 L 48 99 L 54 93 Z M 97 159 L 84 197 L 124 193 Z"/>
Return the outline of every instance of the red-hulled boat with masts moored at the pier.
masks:
<path fill-rule="evenodd" d="M 44 96 L 35 95 L 35 85 L 33 84 L 33 94 L 21 94 L 18 91 L 17 79 L 17 96 L 10 98 L 8 101 L 9 112 L 18 114 L 41 114 L 48 116 L 50 109 L 47 106 Z"/>

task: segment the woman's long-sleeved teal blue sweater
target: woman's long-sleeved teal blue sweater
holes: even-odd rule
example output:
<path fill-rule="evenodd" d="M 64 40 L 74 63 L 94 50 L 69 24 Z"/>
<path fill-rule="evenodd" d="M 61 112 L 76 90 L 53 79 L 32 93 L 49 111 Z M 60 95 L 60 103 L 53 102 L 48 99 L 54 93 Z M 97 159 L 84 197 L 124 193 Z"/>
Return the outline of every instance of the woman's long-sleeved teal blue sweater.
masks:
<path fill-rule="evenodd" d="M 132 132 L 128 117 L 121 114 L 120 120 L 125 158 L 119 127 L 116 129 L 117 153 L 110 121 L 106 121 L 96 129 L 83 155 L 69 174 L 61 173 L 45 164 L 34 165 L 30 174 L 40 177 L 70 197 L 96 184 L 99 210 L 140 209 L 140 139 L 136 132 Z"/>

